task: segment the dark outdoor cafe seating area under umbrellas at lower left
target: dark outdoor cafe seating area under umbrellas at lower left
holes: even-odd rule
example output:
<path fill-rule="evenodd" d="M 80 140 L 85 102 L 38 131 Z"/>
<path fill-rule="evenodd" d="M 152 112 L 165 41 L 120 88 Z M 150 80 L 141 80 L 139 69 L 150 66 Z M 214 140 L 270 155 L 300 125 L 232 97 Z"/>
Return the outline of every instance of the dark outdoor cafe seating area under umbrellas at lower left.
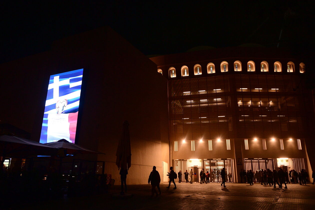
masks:
<path fill-rule="evenodd" d="M 114 180 L 105 173 L 105 162 L 91 160 L 102 153 L 65 141 L 49 145 L 0 136 L 0 208 L 17 200 L 26 203 L 109 191 Z"/>

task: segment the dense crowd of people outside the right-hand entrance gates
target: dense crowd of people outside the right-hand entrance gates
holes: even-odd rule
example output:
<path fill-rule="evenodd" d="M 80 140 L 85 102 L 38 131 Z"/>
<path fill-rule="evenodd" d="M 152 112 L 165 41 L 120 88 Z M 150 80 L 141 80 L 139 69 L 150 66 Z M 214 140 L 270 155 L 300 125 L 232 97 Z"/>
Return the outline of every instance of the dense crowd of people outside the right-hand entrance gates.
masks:
<path fill-rule="evenodd" d="M 310 183 L 308 173 L 305 169 L 301 169 L 301 172 L 296 172 L 295 170 L 290 170 L 288 172 L 282 168 L 279 168 L 278 171 L 270 170 L 268 168 L 267 170 L 261 169 L 261 171 L 256 171 L 255 173 L 253 173 L 252 170 L 246 171 L 241 169 L 239 176 L 241 183 L 244 182 L 253 185 L 254 182 L 257 182 L 261 183 L 261 185 L 273 185 L 274 187 L 278 184 L 280 188 L 282 188 L 282 183 L 284 183 L 285 189 L 287 188 L 286 184 L 290 183 L 300 183 L 301 185 Z M 314 171 L 312 172 L 312 178 L 312 184 L 314 184 Z"/>

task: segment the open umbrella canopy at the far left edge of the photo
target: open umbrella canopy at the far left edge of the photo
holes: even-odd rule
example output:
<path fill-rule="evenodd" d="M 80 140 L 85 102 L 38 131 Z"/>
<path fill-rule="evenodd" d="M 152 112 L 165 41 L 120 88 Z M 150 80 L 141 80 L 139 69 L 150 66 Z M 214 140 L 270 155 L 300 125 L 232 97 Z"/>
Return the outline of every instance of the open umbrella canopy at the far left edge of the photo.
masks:
<path fill-rule="evenodd" d="M 31 155 L 55 155 L 57 149 L 32 140 L 2 135 L 0 136 L 0 156 L 26 157 Z"/>

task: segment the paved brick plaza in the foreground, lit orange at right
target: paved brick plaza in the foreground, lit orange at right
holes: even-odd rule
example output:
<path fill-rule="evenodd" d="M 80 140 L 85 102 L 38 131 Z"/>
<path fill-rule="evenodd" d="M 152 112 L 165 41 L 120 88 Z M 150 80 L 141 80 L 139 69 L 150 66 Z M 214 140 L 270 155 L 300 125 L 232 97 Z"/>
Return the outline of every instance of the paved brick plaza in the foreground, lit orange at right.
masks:
<path fill-rule="evenodd" d="M 116 185 L 106 195 L 64 198 L 12 209 L 315 209 L 315 185 L 312 184 L 288 184 L 288 189 L 260 183 L 253 186 L 227 183 L 226 188 L 219 183 L 176 185 L 177 189 L 173 190 L 173 184 L 170 189 L 166 189 L 167 184 L 161 184 L 162 195 L 154 198 L 150 198 L 149 184 L 128 186 L 128 193 L 133 194 L 131 198 L 113 198 L 112 194 L 119 192 L 120 186 Z"/>

